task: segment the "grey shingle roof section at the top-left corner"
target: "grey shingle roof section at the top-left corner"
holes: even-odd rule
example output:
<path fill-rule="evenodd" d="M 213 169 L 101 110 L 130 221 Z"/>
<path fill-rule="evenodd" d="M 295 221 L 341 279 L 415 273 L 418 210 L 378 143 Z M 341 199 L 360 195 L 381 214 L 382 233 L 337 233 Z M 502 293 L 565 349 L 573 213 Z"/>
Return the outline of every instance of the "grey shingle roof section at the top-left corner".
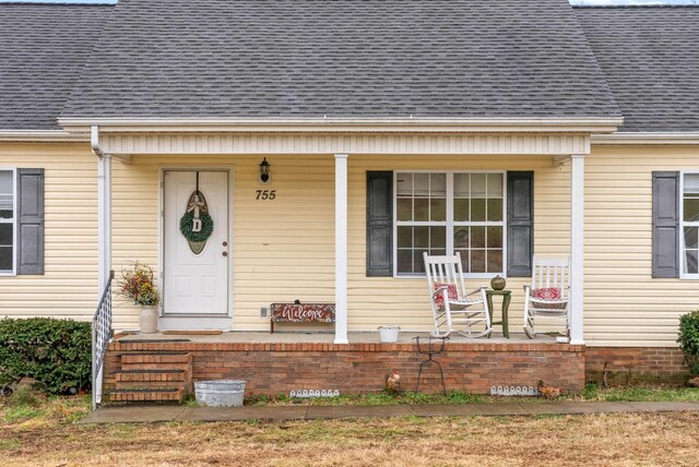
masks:
<path fill-rule="evenodd" d="M 110 10 L 0 4 L 0 129 L 58 129 L 56 118 Z"/>

